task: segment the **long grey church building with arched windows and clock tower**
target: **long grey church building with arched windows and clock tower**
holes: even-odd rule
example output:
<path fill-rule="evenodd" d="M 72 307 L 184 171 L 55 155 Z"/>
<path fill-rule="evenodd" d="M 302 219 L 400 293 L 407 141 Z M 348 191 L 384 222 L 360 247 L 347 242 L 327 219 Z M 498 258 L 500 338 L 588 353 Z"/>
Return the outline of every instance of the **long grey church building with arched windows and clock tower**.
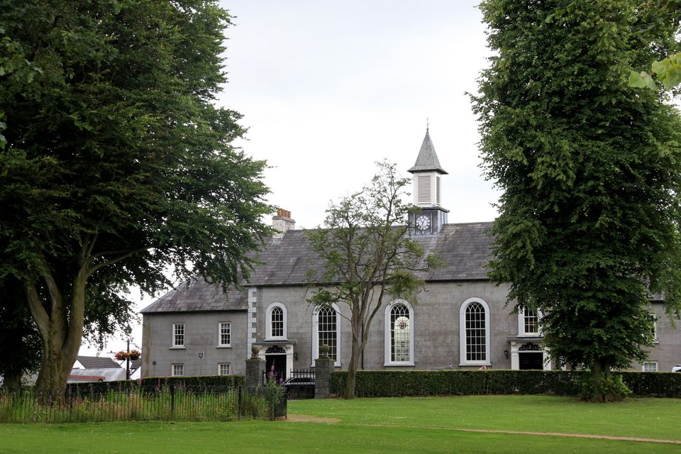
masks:
<path fill-rule="evenodd" d="M 550 369 L 538 314 L 511 314 L 506 284 L 487 278 L 491 222 L 448 223 L 441 200 L 447 172 L 426 129 L 414 175 L 409 226 L 426 253 L 444 266 L 423 273 L 419 304 L 389 301 L 372 322 L 360 360 L 367 370 L 430 370 L 482 366 L 495 369 Z M 173 289 L 141 311 L 143 377 L 245 374 L 251 347 L 284 378 L 294 369 L 314 367 L 319 346 L 331 347 L 337 370 L 347 369 L 352 336 L 347 306 L 316 309 L 307 303 L 306 272 L 319 258 L 289 211 L 273 218 L 279 232 L 266 241 L 242 289 L 227 294 L 195 280 Z M 634 370 L 670 371 L 681 363 L 681 336 L 651 301 L 658 343 L 650 360 Z"/>

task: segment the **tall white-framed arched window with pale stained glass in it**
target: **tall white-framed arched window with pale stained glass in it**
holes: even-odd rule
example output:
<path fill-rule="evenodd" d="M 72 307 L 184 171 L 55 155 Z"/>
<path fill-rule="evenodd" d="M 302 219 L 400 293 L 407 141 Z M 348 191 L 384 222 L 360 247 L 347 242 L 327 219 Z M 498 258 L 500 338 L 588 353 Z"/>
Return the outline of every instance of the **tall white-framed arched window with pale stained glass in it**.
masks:
<path fill-rule="evenodd" d="M 414 311 L 398 299 L 385 308 L 385 364 L 414 365 Z"/>

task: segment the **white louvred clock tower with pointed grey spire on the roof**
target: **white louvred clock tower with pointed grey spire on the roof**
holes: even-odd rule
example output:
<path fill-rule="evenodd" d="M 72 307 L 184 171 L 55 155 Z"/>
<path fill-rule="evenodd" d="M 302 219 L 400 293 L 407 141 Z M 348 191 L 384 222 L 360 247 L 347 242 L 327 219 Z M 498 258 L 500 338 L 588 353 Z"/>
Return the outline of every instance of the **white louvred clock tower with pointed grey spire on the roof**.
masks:
<path fill-rule="evenodd" d="M 421 209 L 409 214 L 409 226 L 414 235 L 437 235 L 449 213 L 440 204 L 440 177 L 447 172 L 440 165 L 428 128 L 416 163 L 407 172 L 414 175 L 414 205 Z"/>

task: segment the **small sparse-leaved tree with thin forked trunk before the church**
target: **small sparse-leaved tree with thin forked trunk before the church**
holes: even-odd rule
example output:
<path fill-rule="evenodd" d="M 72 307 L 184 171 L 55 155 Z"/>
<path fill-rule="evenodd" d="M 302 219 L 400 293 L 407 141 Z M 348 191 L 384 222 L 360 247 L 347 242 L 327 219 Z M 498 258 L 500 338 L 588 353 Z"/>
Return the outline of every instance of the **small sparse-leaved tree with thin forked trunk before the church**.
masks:
<path fill-rule="evenodd" d="M 311 248 L 322 264 L 321 270 L 308 272 L 314 288 L 309 303 L 317 307 L 335 303 L 350 309 L 346 318 L 353 346 L 345 399 L 355 395 L 360 357 L 384 299 L 416 304 L 423 281 L 415 272 L 438 265 L 437 258 L 424 257 L 423 248 L 409 236 L 407 214 L 412 207 L 404 203 L 404 197 L 410 181 L 399 177 L 394 164 L 381 162 L 370 184 L 329 206 L 326 228 L 308 232 Z"/>

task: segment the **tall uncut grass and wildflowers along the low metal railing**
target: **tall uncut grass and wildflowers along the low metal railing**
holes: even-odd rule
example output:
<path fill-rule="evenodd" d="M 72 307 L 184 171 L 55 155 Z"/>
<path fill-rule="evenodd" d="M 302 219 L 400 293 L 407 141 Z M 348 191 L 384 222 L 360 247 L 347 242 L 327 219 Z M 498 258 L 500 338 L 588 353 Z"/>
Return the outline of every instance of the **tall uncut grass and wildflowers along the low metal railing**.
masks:
<path fill-rule="evenodd" d="M 0 393 L 0 423 L 232 421 L 286 416 L 286 397 L 266 388 L 165 387 L 79 392 Z"/>

